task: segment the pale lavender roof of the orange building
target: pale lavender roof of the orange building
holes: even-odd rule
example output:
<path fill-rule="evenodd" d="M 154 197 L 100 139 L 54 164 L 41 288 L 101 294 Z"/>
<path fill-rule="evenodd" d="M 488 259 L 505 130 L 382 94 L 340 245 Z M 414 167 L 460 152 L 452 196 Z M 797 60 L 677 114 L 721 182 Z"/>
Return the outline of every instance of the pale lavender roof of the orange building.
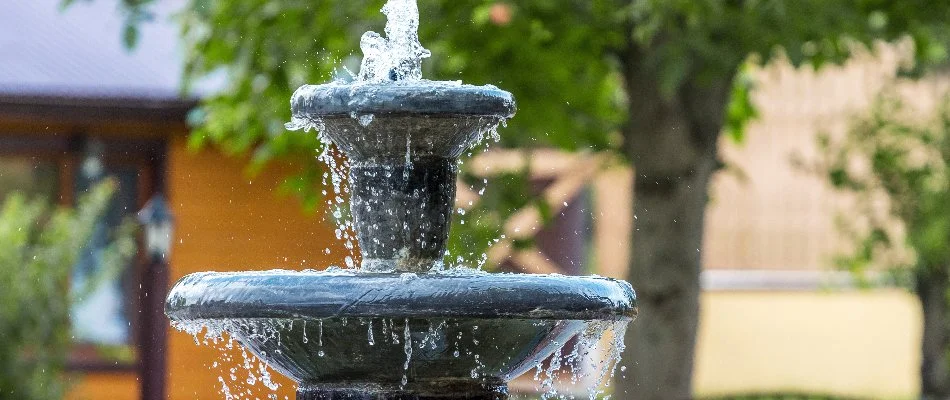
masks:
<path fill-rule="evenodd" d="M 12 1 L 0 12 L 0 105 L 190 102 L 179 96 L 182 51 L 170 20 L 184 0 L 156 2 L 138 45 L 122 43 L 116 0 Z"/>

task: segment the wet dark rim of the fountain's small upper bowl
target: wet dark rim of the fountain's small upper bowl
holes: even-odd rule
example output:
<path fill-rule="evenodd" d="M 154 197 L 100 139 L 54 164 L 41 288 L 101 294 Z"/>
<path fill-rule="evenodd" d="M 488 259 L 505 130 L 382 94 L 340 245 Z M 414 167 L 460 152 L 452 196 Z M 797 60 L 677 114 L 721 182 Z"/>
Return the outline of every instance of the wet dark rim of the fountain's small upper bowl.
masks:
<path fill-rule="evenodd" d="M 507 119 L 517 109 L 511 93 L 495 86 L 434 81 L 303 85 L 290 104 L 293 116 L 305 119 L 368 114 Z"/>

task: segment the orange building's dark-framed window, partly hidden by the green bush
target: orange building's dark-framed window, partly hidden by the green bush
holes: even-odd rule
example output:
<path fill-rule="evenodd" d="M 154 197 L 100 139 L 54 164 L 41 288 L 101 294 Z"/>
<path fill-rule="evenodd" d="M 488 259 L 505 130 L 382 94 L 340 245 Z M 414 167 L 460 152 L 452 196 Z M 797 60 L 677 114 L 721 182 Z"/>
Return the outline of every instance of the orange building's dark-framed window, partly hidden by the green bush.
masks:
<path fill-rule="evenodd" d="M 79 256 L 71 277 L 71 368 L 133 369 L 141 349 L 138 294 L 142 263 L 134 258 L 105 271 L 101 257 L 111 232 L 147 201 L 153 190 L 155 141 L 0 136 L 0 200 L 13 191 L 72 205 L 103 179 L 117 183 L 115 197 Z"/>

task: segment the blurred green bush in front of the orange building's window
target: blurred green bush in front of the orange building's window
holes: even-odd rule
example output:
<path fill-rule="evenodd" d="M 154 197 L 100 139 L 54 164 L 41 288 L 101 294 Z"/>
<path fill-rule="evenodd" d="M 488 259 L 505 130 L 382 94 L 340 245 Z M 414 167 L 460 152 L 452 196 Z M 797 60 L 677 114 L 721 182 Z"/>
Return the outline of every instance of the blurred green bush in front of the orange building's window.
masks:
<path fill-rule="evenodd" d="M 0 399 L 63 397 L 70 299 L 82 295 L 70 293 L 70 273 L 114 191 L 113 182 L 100 184 L 75 209 L 52 210 L 47 199 L 21 194 L 9 195 L 0 207 Z M 135 254 L 134 229 L 126 223 L 117 232 L 96 282 Z"/>

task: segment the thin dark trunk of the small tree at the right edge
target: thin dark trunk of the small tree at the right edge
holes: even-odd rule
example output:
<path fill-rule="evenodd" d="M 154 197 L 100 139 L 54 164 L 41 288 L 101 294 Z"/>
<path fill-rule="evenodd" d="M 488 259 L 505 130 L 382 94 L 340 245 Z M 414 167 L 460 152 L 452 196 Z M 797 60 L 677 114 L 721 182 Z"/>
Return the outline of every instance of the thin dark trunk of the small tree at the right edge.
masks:
<path fill-rule="evenodd" d="M 950 360 L 947 359 L 950 332 L 947 315 L 947 290 L 950 289 L 945 272 L 919 272 L 917 296 L 924 314 L 924 332 L 921 343 L 923 359 L 920 364 L 920 397 L 926 400 L 950 398 Z"/>

